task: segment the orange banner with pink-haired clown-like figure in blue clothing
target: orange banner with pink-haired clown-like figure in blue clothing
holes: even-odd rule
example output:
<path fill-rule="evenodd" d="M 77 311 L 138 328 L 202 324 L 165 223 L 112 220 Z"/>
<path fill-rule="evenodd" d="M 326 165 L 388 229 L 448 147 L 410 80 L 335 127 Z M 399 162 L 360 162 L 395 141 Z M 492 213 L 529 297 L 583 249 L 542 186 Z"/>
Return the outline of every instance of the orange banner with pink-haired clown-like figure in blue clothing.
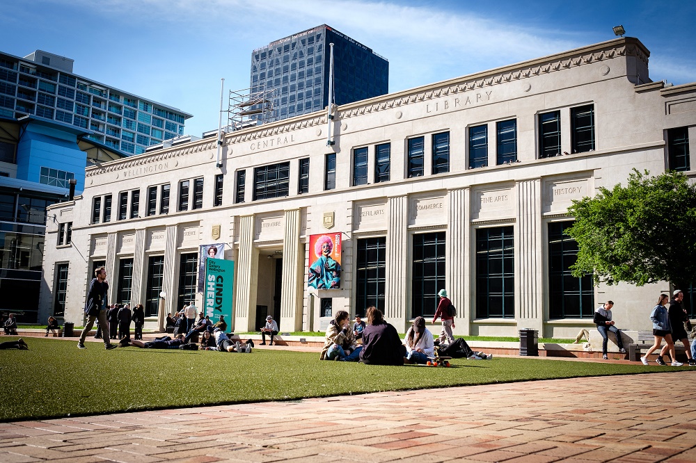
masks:
<path fill-rule="evenodd" d="M 310 235 L 308 285 L 315 289 L 341 286 L 342 233 Z"/>

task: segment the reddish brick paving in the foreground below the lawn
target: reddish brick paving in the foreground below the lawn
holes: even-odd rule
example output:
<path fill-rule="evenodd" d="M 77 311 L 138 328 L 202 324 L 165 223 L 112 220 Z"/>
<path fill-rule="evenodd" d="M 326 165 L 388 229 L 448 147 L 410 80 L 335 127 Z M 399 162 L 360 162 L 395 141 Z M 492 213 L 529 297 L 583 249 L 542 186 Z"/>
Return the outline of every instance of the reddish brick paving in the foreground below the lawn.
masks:
<path fill-rule="evenodd" d="M 695 462 L 695 401 L 685 369 L 0 423 L 0 462 Z"/>

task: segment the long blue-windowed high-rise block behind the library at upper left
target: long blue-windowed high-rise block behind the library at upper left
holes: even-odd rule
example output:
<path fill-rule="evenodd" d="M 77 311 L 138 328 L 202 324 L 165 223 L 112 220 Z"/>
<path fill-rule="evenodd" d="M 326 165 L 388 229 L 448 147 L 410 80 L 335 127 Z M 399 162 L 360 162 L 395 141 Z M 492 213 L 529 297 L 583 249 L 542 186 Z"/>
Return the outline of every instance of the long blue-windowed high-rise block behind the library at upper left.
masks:
<path fill-rule="evenodd" d="M 190 114 L 74 74 L 73 63 L 41 50 L 24 58 L 0 52 L 0 117 L 74 125 L 125 154 L 184 134 Z"/>

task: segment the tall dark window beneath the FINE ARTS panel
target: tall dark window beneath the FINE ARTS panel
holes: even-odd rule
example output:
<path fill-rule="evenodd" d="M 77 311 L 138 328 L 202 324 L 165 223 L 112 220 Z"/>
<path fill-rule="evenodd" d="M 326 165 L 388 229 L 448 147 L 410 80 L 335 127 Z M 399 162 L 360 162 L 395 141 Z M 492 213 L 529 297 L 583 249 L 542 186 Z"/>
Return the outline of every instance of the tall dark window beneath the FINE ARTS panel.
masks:
<path fill-rule="evenodd" d="M 476 230 L 476 318 L 514 318 L 513 227 Z"/>

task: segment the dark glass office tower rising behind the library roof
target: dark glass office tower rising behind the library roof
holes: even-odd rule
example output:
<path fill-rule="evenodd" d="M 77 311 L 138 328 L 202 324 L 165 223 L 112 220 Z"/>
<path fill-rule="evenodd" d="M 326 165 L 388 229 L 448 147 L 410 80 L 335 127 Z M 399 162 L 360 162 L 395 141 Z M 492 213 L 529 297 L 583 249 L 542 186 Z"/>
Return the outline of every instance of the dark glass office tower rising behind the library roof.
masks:
<path fill-rule="evenodd" d="M 389 91 L 389 62 L 326 24 L 271 42 L 251 55 L 251 91 L 274 92 L 271 119 L 329 106 L 329 44 L 333 43 L 334 101 L 341 105 Z"/>

